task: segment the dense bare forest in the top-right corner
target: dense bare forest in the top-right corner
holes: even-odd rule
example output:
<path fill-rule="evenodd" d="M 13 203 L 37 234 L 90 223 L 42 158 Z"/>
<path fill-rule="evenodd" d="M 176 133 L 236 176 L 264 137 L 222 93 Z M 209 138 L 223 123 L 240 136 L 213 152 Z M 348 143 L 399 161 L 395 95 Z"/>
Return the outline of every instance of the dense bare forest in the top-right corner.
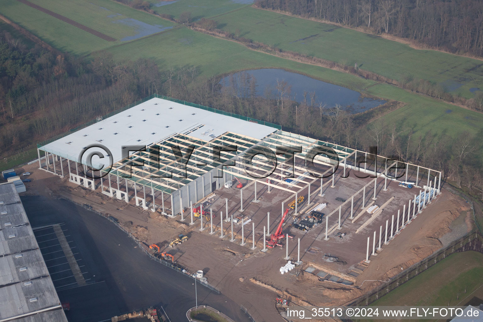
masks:
<path fill-rule="evenodd" d="M 483 55 L 481 0 L 257 0 L 260 8 Z"/>

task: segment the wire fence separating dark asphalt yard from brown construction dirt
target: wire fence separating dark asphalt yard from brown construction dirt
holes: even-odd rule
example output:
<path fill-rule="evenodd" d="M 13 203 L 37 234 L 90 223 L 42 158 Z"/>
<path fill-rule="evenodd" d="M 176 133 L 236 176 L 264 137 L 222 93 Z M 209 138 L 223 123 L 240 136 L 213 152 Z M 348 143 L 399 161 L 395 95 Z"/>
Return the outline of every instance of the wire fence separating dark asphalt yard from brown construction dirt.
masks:
<path fill-rule="evenodd" d="M 92 211 L 92 212 L 95 212 L 95 213 L 97 213 L 99 216 L 102 216 L 102 217 L 104 217 L 104 218 L 107 218 L 107 219 L 108 219 L 109 221 L 111 221 L 111 222 L 112 222 L 114 225 L 116 225 L 116 226 L 117 226 L 117 228 L 121 229 L 121 230 L 122 230 L 122 231 L 124 231 L 126 234 L 128 234 L 128 236 L 129 236 L 130 238 L 132 238 L 132 240 L 134 240 L 134 242 L 135 242 L 136 244 L 138 244 L 139 248 L 140 248 L 140 249 L 141 249 L 143 252 L 145 252 L 145 253 L 146 253 L 146 254 L 147 254 L 147 255 L 148 255 L 148 256 L 149 256 L 149 257 L 150 257 L 152 260 L 154 260 L 154 261 L 156 261 L 156 262 L 158 262 L 158 263 L 160 263 L 160 264 L 163 264 L 164 266 L 167 266 L 167 267 L 170 267 L 170 268 L 174 269 L 175 271 L 177 271 L 177 272 L 179 272 L 179 273 L 181 273 L 181 274 L 183 274 L 183 275 L 185 275 L 185 276 L 187 276 L 187 277 L 189 277 L 189 278 L 191 278 L 191 279 L 195 280 L 195 282 L 199 282 L 201 285 L 203 285 L 203 286 L 205 286 L 205 287 L 209 288 L 210 290 L 212 290 L 213 292 L 216 292 L 217 294 L 220 294 L 220 293 L 221 293 L 219 289 L 217 289 L 216 287 L 214 287 L 213 285 L 211 285 L 211 284 L 209 284 L 209 283 L 207 283 L 207 282 L 202 282 L 202 281 L 200 281 L 199 279 L 197 279 L 197 278 L 196 278 L 196 276 L 194 276 L 194 274 L 189 273 L 189 272 L 188 272 L 186 269 L 184 269 L 182 266 L 180 266 L 180 265 L 178 265 L 178 264 L 176 264 L 176 263 L 170 263 L 170 262 L 165 261 L 165 260 L 163 260 L 163 259 L 157 258 L 157 257 L 156 257 L 156 256 L 154 256 L 153 254 L 151 254 L 150 252 L 148 252 L 148 251 L 147 251 L 147 249 L 145 248 L 145 245 L 144 245 L 142 242 L 140 242 L 138 238 L 136 238 L 135 236 L 133 236 L 133 235 L 132 235 L 132 234 L 131 234 L 131 233 L 130 233 L 130 232 L 129 232 L 129 231 L 126 229 L 126 228 L 124 228 L 124 227 L 123 227 L 121 224 L 119 224 L 119 222 L 117 221 L 117 219 L 116 219 L 116 218 L 114 218 L 113 216 L 108 215 L 108 214 L 105 214 L 105 213 L 102 213 L 102 212 L 99 212 L 98 210 L 93 209 L 93 208 L 92 208 L 91 206 L 89 206 L 89 205 L 78 203 L 78 202 L 76 202 L 76 201 L 74 201 L 74 200 L 72 200 L 72 199 L 70 199 L 70 198 L 68 198 L 68 197 L 65 197 L 65 196 L 61 196 L 61 197 L 58 197 L 58 198 L 59 198 L 59 199 L 65 199 L 65 200 L 67 200 L 67 201 L 70 201 L 70 202 L 72 202 L 72 203 L 76 204 L 77 206 L 80 206 L 80 207 L 82 207 L 82 208 L 84 208 L 84 209 L 86 209 L 86 210 L 90 210 L 90 211 Z"/>

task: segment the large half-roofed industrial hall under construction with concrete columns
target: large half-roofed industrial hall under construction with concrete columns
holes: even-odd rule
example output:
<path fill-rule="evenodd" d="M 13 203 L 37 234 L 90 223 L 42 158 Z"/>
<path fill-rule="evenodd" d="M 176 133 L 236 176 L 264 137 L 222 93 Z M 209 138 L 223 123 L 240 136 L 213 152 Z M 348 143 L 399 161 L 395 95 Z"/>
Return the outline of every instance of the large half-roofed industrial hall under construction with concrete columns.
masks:
<path fill-rule="evenodd" d="M 284 205 L 305 196 L 303 209 L 298 209 L 295 203 L 295 216 L 321 204 L 327 206 L 324 227 L 317 229 L 314 238 L 328 240 L 332 233 L 341 231 L 342 225 L 355 234 L 369 228 L 374 230 L 372 253 L 376 248 L 375 230 L 379 230 L 378 249 L 381 249 L 381 241 L 387 243 L 399 227 L 408 224 L 440 192 L 441 184 L 441 172 L 437 170 L 158 96 L 113 116 L 98 118 L 96 123 L 59 140 L 39 144 L 38 153 L 39 167 L 43 170 L 69 176 L 72 183 L 100 189 L 104 195 L 144 210 L 171 217 L 181 214 L 182 220 L 186 220 L 192 205 L 213 196 L 217 189 L 226 190 L 215 194 L 229 195 L 223 207 L 219 205 L 216 210 L 222 218 L 221 212 L 225 212 L 227 222 L 228 212 L 230 216 L 235 211 L 243 213 L 261 198 L 269 205 L 280 202 L 282 214 Z M 235 182 L 235 187 L 241 181 L 239 192 L 227 190 L 231 182 Z M 326 187 L 336 189 L 323 193 Z M 407 189 L 412 187 L 418 191 Z M 236 202 L 230 210 L 228 200 L 232 205 Z M 392 223 L 389 217 L 382 222 L 382 216 L 377 218 L 384 207 L 386 213 L 393 214 Z M 361 217 L 366 210 L 371 215 L 367 220 Z M 252 214 L 254 232 L 255 225 L 263 226 L 266 219 L 270 232 L 270 214 L 266 218 L 259 213 Z M 365 222 L 355 226 L 359 217 Z M 272 222 L 278 218 L 280 215 L 272 213 Z M 213 231 L 213 221 L 211 224 Z M 357 244 L 365 245 L 365 238 L 357 240 Z"/>

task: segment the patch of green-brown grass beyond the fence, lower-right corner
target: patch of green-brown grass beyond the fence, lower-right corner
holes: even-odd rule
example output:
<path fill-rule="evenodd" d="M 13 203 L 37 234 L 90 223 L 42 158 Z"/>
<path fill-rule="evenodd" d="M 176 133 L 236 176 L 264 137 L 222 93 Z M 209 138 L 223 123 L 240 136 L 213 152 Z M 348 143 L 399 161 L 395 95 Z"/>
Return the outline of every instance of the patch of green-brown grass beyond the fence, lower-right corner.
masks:
<path fill-rule="evenodd" d="M 465 305 L 483 285 L 483 254 L 454 253 L 372 303 L 372 306 Z M 465 294 L 466 288 L 466 294 Z M 480 289 L 481 290 L 481 289 Z M 456 299 L 459 294 L 459 300 Z M 481 293 L 479 293 L 481 294 Z"/>

